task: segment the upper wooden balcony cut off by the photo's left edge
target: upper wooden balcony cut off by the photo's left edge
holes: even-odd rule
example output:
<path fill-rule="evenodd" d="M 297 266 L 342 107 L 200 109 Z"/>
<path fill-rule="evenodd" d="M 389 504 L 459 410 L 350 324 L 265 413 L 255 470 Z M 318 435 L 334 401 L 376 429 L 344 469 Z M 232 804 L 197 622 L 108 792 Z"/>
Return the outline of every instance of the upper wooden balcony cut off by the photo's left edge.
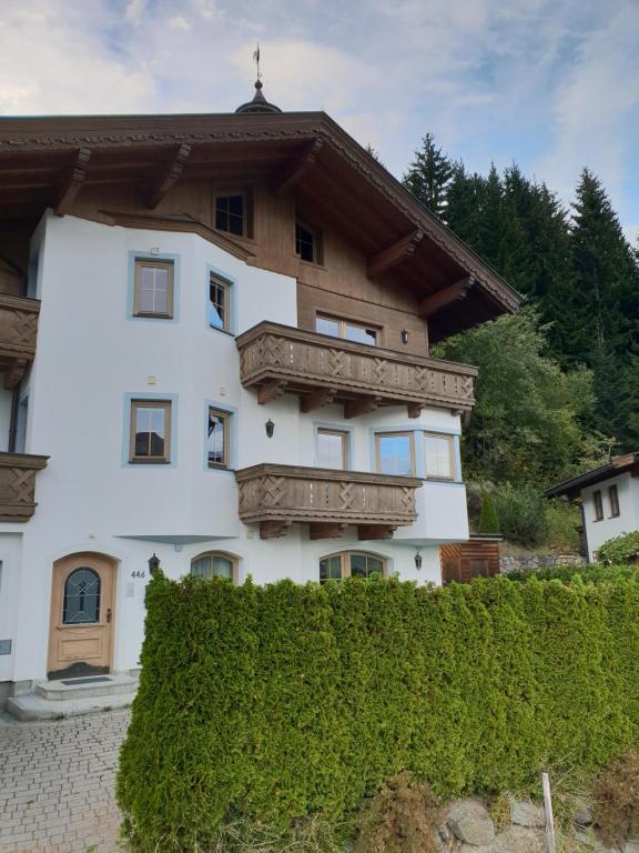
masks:
<path fill-rule="evenodd" d="M 4 388 L 16 388 L 36 358 L 40 302 L 0 293 L 0 370 Z"/>

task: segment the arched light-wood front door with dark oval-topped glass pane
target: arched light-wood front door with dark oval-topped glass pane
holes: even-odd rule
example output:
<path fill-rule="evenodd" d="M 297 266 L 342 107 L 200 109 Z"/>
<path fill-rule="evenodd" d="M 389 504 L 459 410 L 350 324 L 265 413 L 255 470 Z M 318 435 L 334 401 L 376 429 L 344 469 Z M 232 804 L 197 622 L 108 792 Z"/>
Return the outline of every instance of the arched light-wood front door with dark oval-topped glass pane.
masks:
<path fill-rule="evenodd" d="M 73 554 L 53 563 L 49 678 L 111 671 L 115 564 L 101 554 Z"/>

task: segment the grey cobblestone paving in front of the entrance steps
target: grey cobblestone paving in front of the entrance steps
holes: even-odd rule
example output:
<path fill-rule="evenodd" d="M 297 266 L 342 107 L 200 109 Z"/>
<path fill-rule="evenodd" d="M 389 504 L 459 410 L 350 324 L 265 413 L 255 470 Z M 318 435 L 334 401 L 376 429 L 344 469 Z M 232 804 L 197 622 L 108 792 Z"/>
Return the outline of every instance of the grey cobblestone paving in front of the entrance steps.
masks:
<path fill-rule="evenodd" d="M 115 853 L 129 711 L 0 724 L 0 853 Z"/>

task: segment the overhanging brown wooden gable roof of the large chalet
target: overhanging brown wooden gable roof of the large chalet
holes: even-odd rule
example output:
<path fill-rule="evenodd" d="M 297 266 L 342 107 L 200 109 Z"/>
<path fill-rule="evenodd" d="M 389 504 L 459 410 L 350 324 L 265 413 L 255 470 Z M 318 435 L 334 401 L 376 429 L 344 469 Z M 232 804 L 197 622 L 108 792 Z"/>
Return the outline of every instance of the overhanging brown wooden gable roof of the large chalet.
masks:
<path fill-rule="evenodd" d="M 429 319 L 433 341 L 515 311 L 521 297 L 323 112 L 0 119 L 0 221 L 34 224 L 84 187 L 272 177 L 369 259 L 426 299 L 468 278 L 462 303 Z"/>

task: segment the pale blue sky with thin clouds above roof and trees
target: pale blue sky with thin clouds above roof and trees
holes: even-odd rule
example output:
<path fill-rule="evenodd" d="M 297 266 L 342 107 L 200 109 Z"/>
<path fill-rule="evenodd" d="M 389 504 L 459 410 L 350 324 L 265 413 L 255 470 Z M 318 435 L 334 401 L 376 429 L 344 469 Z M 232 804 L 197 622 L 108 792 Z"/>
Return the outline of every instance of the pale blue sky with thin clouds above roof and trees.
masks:
<path fill-rule="evenodd" d="M 0 0 L 0 116 L 325 110 L 398 178 L 426 132 L 639 237 L 639 0 Z"/>

